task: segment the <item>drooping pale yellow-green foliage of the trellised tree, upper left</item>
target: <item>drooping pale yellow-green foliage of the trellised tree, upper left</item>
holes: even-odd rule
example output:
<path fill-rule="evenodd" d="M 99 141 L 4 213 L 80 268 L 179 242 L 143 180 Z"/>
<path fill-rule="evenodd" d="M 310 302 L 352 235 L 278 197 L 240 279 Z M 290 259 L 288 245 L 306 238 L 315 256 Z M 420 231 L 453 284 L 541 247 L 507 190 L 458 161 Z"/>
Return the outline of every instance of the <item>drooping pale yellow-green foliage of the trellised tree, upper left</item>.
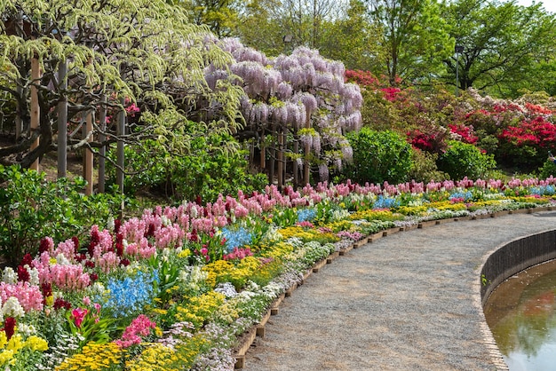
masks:
<path fill-rule="evenodd" d="M 165 150 L 186 154 L 188 141 L 207 131 L 230 132 L 238 126 L 242 89 L 222 80 L 210 89 L 203 69 L 226 68 L 229 54 L 207 28 L 192 25 L 187 13 L 163 0 L 102 2 L 4 0 L 0 2 L 0 91 L 19 105 L 16 119 L 29 127 L 29 90 L 39 91 L 40 128 L 0 149 L 2 162 L 27 167 L 56 148 L 57 105 L 69 102 L 69 148 L 99 147 L 118 138 L 115 125 L 94 122 L 92 138 L 105 131 L 103 143 L 87 143 L 71 134 L 83 115 L 123 109 L 123 98 L 141 110 L 124 140 L 138 144 L 156 138 Z M 30 78 L 30 59 L 39 60 L 42 77 Z M 60 62 L 68 61 L 68 89 L 60 88 Z M 103 100 L 107 98 L 106 102 Z M 183 130 L 187 119 L 199 122 Z M 111 122 L 115 122 L 114 117 Z M 40 146 L 29 148 L 34 139 Z"/>

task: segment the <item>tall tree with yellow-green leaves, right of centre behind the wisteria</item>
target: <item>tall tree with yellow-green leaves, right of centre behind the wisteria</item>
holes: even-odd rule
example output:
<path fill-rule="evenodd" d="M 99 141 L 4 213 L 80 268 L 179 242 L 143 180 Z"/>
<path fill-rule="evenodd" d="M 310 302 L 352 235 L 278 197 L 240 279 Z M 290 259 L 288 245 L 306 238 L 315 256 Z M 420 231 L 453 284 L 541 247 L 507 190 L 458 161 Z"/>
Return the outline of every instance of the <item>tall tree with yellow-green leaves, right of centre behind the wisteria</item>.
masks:
<path fill-rule="evenodd" d="M 428 81 L 453 50 L 440 7 L 433 0 L 368 0 L 371 20 L 382 30 L 377 39 L 382 51 L 375 56 L 390 84 L 416 79 Z"/>

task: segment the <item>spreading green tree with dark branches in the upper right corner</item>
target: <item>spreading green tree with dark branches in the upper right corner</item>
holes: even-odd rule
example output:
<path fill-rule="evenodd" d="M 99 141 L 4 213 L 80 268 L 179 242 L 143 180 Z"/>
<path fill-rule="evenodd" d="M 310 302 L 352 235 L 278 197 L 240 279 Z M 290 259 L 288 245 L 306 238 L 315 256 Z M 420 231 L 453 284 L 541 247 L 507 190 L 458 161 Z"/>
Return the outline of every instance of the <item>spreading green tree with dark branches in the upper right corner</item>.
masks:
<path fill-rule="evenodd" d="M 463 47 L 458 87 L 517 97 L 520 89 L 553 91 L 556 64 L 556 19 L 541 4 L 523 7 L 510 2 L 457 0 L 442 16 L 449 35 Z M 445 59 L 453 83 L 457 57 Z M 548 79 L 547 79 L 548 77 Z"/>

